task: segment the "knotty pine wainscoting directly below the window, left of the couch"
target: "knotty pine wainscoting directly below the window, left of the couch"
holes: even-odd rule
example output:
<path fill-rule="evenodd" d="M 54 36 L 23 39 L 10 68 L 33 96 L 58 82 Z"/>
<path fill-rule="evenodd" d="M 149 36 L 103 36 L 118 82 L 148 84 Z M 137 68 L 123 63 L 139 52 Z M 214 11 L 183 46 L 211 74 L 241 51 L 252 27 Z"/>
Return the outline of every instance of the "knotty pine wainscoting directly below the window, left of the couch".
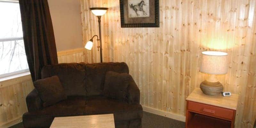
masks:
<path fill-rule="evenodd" d="M 0 82 L 0 127 L 8 128 L 22 121 L 27 112 L 26 96 L 34 88 L 30 75 Z"/>

